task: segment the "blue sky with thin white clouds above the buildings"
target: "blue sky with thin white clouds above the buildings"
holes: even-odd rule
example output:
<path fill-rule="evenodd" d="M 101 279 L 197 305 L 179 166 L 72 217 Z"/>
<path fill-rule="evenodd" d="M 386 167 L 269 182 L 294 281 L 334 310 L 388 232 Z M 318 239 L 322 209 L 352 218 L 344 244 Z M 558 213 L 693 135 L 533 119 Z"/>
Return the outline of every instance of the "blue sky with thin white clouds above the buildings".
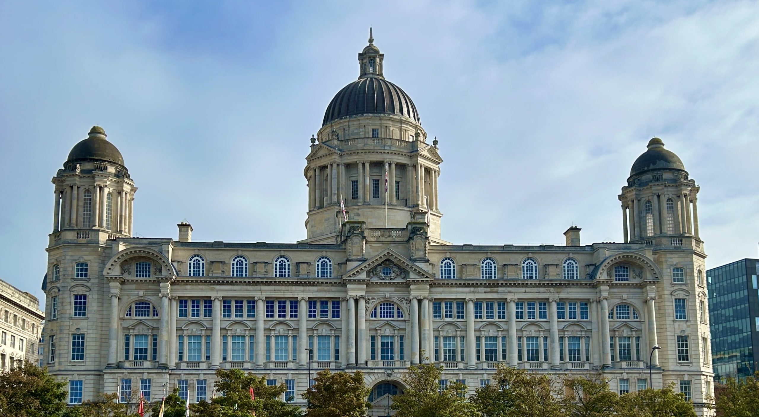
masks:
<path fill-rule="evenodd" d="M 304 239 L 309 138 L 374 43 L 445 160 L 442 238 L 622 241 L 650 138 L 701 187 L 707 268 L 759 257 L 759 3 L 0 2 L 0 279 L 46 272 L 53 187 L 93 125 L 138 237 Z"/>

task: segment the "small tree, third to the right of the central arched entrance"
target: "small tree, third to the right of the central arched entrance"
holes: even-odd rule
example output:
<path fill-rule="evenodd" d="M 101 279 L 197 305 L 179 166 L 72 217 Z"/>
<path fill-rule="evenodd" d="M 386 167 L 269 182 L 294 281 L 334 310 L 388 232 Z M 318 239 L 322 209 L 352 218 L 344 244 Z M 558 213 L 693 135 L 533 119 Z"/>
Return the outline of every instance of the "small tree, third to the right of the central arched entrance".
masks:
<path fill-rule="evenodd" d="M 619 396 L 603 377 L 566 378 L 562 407 L 567 417 L 607 417 L 616 412 Z"/>

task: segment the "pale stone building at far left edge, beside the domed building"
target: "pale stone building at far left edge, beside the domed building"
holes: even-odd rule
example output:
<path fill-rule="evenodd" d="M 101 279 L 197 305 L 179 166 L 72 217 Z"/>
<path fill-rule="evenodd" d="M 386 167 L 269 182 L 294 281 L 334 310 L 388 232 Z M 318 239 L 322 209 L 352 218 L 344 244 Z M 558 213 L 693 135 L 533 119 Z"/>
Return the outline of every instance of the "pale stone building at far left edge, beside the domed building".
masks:
<path fill-rule="evenodd" d="M 37 363 L 44 319 L 36 296 L 0 280 L 0 372 L 24 360 Z"/>

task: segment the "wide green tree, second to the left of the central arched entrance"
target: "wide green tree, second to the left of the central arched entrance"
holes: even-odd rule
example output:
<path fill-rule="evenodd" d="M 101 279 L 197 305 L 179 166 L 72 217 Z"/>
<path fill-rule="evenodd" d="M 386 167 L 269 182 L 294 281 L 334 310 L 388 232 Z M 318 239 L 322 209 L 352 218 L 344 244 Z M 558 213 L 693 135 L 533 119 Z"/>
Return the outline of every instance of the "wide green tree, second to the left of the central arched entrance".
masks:
<path fill-rule="evenodd" d="M 240 369 L 216 370 L 216 398 L 191 404 L 190 410 L 198 417 L 300 417 L 301 410 L 281 400 L 287 387 L 266 385 L 266 377 L 257 377 Z M 250 399 L 253 387 L 256 400 Z M 222 395 L 223 394 L 223 395 Z"/>

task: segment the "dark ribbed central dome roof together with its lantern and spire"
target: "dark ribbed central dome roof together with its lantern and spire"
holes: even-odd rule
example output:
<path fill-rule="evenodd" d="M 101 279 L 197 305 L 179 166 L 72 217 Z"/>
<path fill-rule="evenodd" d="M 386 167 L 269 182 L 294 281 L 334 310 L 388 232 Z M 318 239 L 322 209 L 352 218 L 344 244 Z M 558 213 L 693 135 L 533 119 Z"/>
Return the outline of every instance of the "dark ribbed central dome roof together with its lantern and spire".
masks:
<path fill-rule="evenodd" d="M 419 113 L 411 97 L 401 87 L 385 80 L 385 55 L 374 45 L 371 29 L 369 45 L 358 54 L 358 80 L 343 87 L 329 102 L 322 126 L 357 114 L 390 114 L 409 118 L 421 124 Z"/>

